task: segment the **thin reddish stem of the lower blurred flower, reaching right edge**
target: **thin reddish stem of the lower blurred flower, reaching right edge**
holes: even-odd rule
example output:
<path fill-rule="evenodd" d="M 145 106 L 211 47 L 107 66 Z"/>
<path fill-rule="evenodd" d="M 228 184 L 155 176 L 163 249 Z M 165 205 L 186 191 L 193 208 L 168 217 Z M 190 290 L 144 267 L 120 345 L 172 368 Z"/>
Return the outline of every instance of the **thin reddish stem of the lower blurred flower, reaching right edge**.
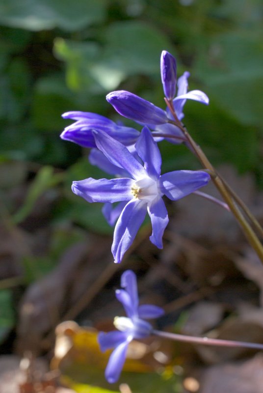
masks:
<path fill-rule="evenodd" d="M 224 347 L 234 347 L 234 348 L 241 347 L 241 348 L 251 348 L 251 349 L 263 349 L 263 344 L 258 344 L 255 342 L 221 340 L 218 338 L 209 338 L 209 337 L 185 336 L 176 333 L 161 332 L 159 330 L 153 330 L 152 334 L 170 340 L 189 342 L 192 344 L 214 345 L 214 346 L 224 346 Z"/>

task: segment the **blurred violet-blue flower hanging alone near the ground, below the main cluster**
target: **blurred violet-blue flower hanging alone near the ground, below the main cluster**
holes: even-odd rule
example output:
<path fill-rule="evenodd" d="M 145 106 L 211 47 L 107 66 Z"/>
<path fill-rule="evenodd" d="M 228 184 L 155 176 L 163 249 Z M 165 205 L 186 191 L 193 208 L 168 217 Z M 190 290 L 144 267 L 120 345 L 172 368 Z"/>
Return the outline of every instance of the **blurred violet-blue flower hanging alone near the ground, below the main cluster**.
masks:
<path fill-rule="evenodd" d="M 114 348 L 105 369 L 105 377 L 109 383 L 118 380 L 122 371 L 129 343 L 135 339 L 148 337 L 152 326 L 142 318 L 158 318 L 164 314 L 163 309 L 153 305 L 139 306 L 136 276 L 131 270 L 126 270 L 121 276 L 121 287 L 116 290 L 116 298 L 122 303 L 127 317 L 115 317 L 114 325 L 119 331 L 99 333 L 98 341 L 101 350 L 105 352 Z"/>

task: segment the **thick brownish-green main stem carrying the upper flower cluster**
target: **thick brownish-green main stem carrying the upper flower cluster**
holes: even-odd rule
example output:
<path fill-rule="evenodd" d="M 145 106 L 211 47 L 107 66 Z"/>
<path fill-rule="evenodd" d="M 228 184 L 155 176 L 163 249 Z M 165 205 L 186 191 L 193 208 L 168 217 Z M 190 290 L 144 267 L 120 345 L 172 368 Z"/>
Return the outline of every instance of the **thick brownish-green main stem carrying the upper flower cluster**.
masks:
<path fill-rule="evenodd" d="M 200 146 L 197 143 L 195 143 L 195 141 L 189 135 L 187 130 L 183 127 L 183 125 L 181 124 L 180 120 L 178 119 L 178 117 L 175 113 L 172 100 L 169 101 L 166 98 L 164 100 L 165 100 L 168 108 L 170 109 L 172 115 L 174 116 L 174 119 L 175 119 L 174 124 L 177 127 L 179 127 L 180 130 L 184 133 L 185 139 L 187 140 L 191 150 L 194 152 L 196 157 L 199 159 L 202 166 L 206 169 L 209 169 L 210 172 L 213 173 L 213 175 L 211 176 L 211 179 L 212 179 L 214 185 L 216 186 L 216 188 L 218 189 L 218 191 L 220 192 L 222 197 L 227 202 L 230 210 L 232 211 L 233 215 L 237 219 L 237 222 L 241 226 L 244 234 L 246 235 L 247 240 L 249 241 L 250 245 L 253 247 L 253 249 L 258 254 L 260 260 L 263 263 L 263 245 L 260 242 L 257 234 L 255 233 L 255 231 L 253 230 L 251 225 L 248 223 L 248 221 L 245 219 L 242 212 L 238 208 L 237 203 L 239 204 L 239 198 L 238 199 L 234 198 L 233 197 L 234 192 L 233 193 L 229 192 L 230 187 L 229 186 L 226 187 L 223 180 L 217 174 L 216 170 L 213 168 L 212 164 L 210 163 L 209 159 L 206 157 L 203 150 L 200 148 Z M 241 208 L 243 208 L 243 206 L 244 206 L 244 203 L 242 202 Z M 244 208 L 243 208 L 243 210 L 244 210 Z M 249 211 L 249 209 L 247 207 L 246 207 L 246 211 Z M 249 212 L 249 217 L 250 217 L 250 220 L 251 220 L 251 217 L 253 217 L 252 213 L 250 213 L 250 212 Z M 253 224 L 255 223 L 255 221 L 256 221 L 256 219 L 253 220 Z"/>

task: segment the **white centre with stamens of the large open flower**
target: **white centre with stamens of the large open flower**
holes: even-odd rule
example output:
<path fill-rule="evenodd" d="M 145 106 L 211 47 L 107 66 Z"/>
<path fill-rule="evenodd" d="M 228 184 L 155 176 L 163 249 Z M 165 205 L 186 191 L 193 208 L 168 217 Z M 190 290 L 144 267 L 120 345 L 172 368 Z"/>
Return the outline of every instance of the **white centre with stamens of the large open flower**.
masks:
<path fill-rule="evenodd" d="M 151 202 L 160 196 L 158 181 L 149 176 L 134 181 L 131 191 L 134 198 L 144 199 L 146 202 Z"/>

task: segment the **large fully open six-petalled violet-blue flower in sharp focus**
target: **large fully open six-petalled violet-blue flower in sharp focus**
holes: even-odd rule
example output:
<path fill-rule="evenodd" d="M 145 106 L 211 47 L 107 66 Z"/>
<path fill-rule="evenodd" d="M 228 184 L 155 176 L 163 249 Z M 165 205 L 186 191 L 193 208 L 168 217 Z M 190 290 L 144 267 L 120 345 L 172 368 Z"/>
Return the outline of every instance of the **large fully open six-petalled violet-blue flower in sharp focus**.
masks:
<path fill-rule="evenodd" d="M 115 226 L 112 254 L 116 263 L 132 245 L 148 212 L 153 232 L 150 240 L 162 248 L 162 235 L 168 214 L 162 196 L 178 200 L 205 186 L 210 176 L 204 171 L 176 170 L 160 174 L 161 156 L 150 130 L 144 127 L 135 148 L 142 166 L 120 142 L 103 131 L 93 131 L 97 147 L 111 164 L 125 169 L 130 177 L 114 179 L 88 178 L 74 181 L 72 190 L 88 202 L 126 202 Z"/>

